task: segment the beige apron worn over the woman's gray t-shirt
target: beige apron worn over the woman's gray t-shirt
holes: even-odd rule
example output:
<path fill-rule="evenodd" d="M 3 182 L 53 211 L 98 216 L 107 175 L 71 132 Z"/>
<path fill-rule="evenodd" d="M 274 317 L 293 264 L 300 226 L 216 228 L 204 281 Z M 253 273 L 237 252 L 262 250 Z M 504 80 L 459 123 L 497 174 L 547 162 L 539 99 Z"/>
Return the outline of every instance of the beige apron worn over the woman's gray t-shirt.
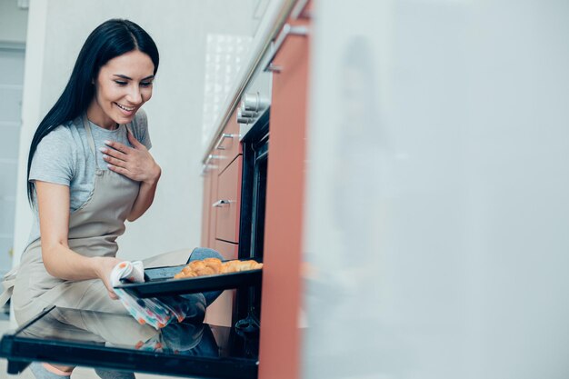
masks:
<path fill-rule="evenodd" d="M 91 128 L 83 118 L 89 147 L 95 155 L 95 184 L 89 199 L 70 214 L 69 248 L 85 256 L 115 256 L 116 238 L 125 232 L 125 219 L 135 204 L 139 182 L 99 168 Z M 8 278 L 9 279 L 9 278 Z M 123 305 L 109 298 L 99 279 L 67 281 L 47 273 L 41 241 L 30 244 L 22 254 L 15 274 L 14 304 L 18 324 L 29 320 L 48 305 L 123 313 Z"/>

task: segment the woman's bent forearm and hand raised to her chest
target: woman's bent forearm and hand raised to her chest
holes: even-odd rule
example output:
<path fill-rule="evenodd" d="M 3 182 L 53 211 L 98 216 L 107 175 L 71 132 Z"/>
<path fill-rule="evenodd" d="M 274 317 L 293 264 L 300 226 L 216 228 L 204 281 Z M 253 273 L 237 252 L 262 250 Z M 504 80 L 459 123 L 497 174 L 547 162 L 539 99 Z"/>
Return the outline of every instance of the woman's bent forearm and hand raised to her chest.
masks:
<path fill-rule="evenodd" d="M 109 164 L 110 170 L 140 182 L 135 204 L 131 213 L 126 217 L 128 221 L 135 221 L 145 214 L 154 202 L 156 185 L 162 175 L 162 169 L 155 163 L 146 146 L 138 142 L 130 131 L 128 140 L 134 147 L 109 141 L 106 144 L 109 147 L 103 149 L 102 152 L 105 153 L 104 159 Z"/>

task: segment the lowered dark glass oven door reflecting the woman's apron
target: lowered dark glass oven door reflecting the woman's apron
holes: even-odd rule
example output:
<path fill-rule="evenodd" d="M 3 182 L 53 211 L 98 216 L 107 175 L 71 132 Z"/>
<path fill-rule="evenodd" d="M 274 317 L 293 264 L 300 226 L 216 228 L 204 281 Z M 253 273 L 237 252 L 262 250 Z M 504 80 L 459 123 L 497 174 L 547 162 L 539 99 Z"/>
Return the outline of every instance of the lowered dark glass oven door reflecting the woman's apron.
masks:
<path fill-rule="evenodd" d="M 34 361 L 193 378 L 255 379 L 257 334 L 203 324 L 203 314 L 160 330 L 129 314 L 52 306 L 0 341 L 8 374 Z"/>

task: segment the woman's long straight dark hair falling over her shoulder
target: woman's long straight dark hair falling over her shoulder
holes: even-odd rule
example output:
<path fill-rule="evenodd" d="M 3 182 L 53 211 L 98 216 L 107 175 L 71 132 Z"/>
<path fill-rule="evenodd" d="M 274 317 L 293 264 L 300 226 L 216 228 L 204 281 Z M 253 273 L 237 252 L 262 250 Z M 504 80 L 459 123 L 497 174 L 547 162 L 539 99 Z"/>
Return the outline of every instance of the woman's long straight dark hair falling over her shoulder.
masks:
<path fill-rule="evenodd" d="M 152 37 L 132 21 L 112 19 L 96 27 L 87 37 L 79 52 L 71 77 L 55 105 L 45 115 L 35 131 L 30 154 L 27 158 L 27 198 L 34 205 L 35 183 L 29 181 L 32 158 L 40 141 L 57 126 L 74 120 L 85 113 L 95 96 L 95 85 L 99 70 L 109 60 L 138 50 L 150 57 L 158 70 L 158 49 Z"/>

